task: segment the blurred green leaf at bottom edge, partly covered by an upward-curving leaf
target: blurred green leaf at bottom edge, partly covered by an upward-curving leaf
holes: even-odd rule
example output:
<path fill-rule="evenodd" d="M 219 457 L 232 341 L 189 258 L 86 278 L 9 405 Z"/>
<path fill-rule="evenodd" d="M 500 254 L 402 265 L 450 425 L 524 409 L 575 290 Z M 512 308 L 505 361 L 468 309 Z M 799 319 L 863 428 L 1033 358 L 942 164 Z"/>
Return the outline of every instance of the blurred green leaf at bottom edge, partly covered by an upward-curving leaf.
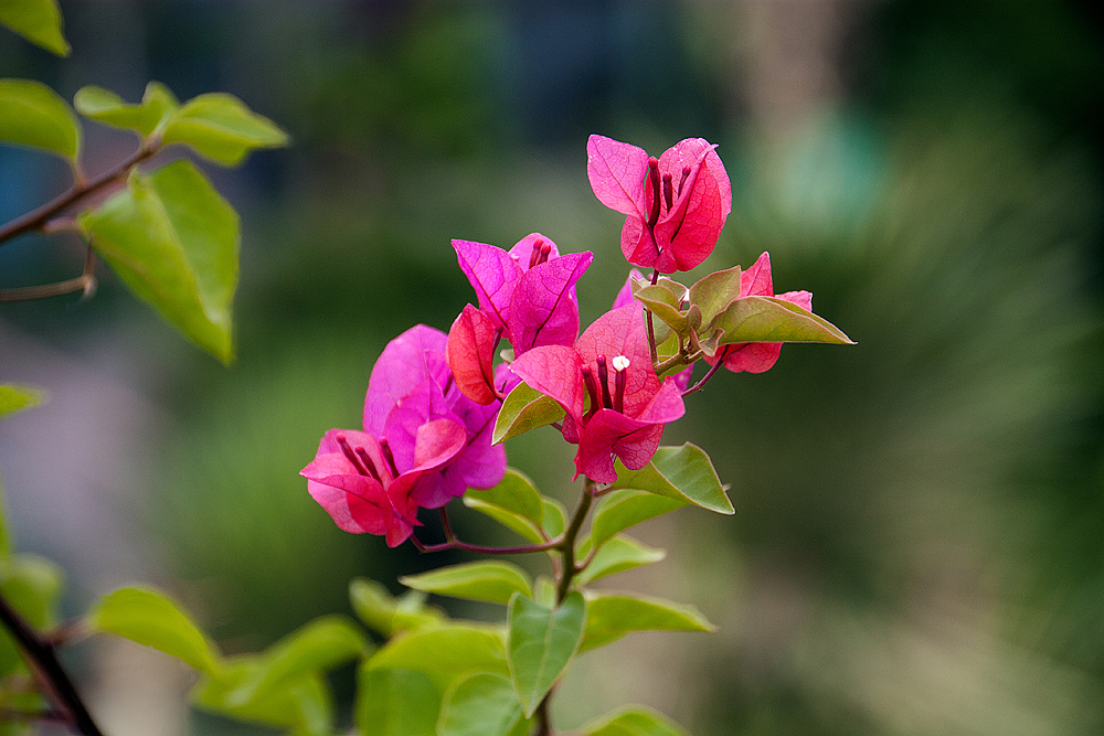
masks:
<path fill-rule="evenodd" d="M 192 687 L 191 701 L 200 707 L 238 721 L 291 728 L 296 733 L 323 736 L 333 723 L 333 697 L 319 673 L 308 674 L 254 697 L 245 704 L 230 700 L 242 683 L 256 676 L 264 666 L 254 655 L 226 660 L 217 678 L 204 675 Z"/>

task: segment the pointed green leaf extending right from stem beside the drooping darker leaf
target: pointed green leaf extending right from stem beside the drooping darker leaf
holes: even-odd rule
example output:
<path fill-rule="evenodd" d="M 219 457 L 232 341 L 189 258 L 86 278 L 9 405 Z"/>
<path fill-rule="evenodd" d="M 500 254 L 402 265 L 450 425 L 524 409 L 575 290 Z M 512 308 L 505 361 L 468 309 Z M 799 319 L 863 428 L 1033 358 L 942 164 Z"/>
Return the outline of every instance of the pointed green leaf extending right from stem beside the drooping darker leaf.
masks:
<path fill-rule="evenodd" d="M 599 595 L 590 591 L 586 602 L 586 631 L 581 652 L 604 647 L 631 631 L 714 631 L 693 606 L 660 598 L 629 595 Z"/>

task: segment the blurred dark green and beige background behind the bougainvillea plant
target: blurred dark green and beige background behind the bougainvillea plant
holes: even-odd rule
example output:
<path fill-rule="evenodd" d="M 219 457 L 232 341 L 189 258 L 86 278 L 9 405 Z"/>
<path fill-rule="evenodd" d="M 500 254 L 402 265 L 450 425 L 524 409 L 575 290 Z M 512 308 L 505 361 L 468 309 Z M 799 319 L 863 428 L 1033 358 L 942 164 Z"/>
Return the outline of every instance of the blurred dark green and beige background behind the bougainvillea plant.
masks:
<path fill-rule="evenodd" d="M 0 380 L 50 403 L 6 422 L 21 550 L 77 614 L 161 585 L 227 651 L 348 611 L 350 577 L 426 561 L 339 532 L 299 469 L 355 427 L 372 363 L 473 300 L 449 239 L 539 231 L 597 254 L 584 322 L 626 274 L 586 137 L 719 143 L 734 209 L 709 269 L 768 249 L 857 346 L 790 345 L 721 375 L 693 439 L 734 518 L 637 535 L 613 578 L 698 605 L 715 634 L 582 658 L 574 726 L 629 702 L 696 736 L 1104 733 L 1104 15 L 1076 0 L 62 0 L 73 54 L 4 32 L 0 76 L 63 96 L 233 93 L 294 145 L 209 169 L 243 218 L 237 362 L 181 340 L 105 270 L 94 299 L 0 309 Z M 86 125 L 92 171 L 132 147 Z M 0 148 L 0 220 L 65 186 Z M 81 246 L 0 249 L 0 287 L 66 278 Z M 511 463 L 572 498 L 551 430 Z M 460 514 L 460 534 L 497 532 Z M 540 561 L 526 564 L 539 568 Z M 453 609 L 457 615 L 495 611 Z M 140 648 L 72 660 L 113 734 L 265 733 L 189 714 Z M 336 684 L 342 697 L 351 672 Z M 348 717 L 348 716 L 346 716 Z"/>

